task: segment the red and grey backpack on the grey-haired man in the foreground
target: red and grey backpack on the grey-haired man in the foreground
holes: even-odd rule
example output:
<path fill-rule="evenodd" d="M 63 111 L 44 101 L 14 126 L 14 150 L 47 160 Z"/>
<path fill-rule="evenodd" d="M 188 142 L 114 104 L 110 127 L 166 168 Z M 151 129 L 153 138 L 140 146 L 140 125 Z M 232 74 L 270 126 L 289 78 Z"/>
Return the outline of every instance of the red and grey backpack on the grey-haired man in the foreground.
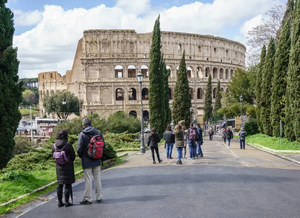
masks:
<path fill-rule="evenodd" d="M 86 156 L 92 159 L 101 159 L 103 156 L 104 141 L 99 135 L 91 137 L 89 140 Z"/>

